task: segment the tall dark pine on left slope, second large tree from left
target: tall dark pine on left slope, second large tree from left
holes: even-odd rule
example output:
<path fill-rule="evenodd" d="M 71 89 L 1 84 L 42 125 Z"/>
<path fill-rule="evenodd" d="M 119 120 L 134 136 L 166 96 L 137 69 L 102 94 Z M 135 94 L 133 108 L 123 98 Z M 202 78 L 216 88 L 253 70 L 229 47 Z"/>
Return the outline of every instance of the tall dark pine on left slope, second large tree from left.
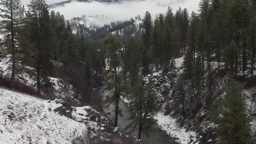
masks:
<path fill-rule="evenodd" d="M 38 7 L 38 5 L 40 7 Z M 30 43 L 33 44 L 33 65 L 36 69 L 37 91 L 50 88 L 51 82 L 47 75 L 52 67 L 51 44 L 53 29 L 51 26 L 48 5 L 44 0 L 32 0 L 28 5 L 28 25 L 30 26 Z"/>

